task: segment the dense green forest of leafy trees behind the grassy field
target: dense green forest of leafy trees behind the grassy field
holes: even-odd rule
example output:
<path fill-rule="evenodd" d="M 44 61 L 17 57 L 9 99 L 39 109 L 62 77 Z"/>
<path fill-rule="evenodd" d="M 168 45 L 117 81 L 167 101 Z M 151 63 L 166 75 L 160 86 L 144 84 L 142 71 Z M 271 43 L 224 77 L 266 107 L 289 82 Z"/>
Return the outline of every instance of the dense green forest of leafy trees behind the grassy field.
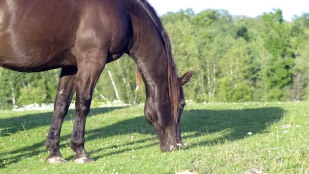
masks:
<path fill-rule="evenodd" d="M 191 9 L 161 16 L 172 42 L 179 76 L 194 70 L 184 86 L 194 102 L 298 101 L 309 99 L 309 13 L 283 19 L 273 9 L 255 18 L 226 10 Z M 143 103 L 136 65 L 128 56 L 106 66 L 94 102 Z M 0 109 L 53 103 L 59 69 L 19 73 L 0 68 Z M 74 100 L 74 99 L 73 99 Z"/>

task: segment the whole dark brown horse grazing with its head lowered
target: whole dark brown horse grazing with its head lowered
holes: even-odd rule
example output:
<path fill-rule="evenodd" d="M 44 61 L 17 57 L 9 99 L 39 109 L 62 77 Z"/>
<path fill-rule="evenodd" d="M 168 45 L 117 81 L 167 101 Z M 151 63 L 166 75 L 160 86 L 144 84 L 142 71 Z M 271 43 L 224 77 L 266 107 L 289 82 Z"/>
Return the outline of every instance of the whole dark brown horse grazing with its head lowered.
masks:
<path fill-rule="evenodd" d="M 62 68 L 54 114 L 46 138 L 46 161 L 65 161 L 59 135 L 76 91 L 76 117 L 70 147 L 74 162 L 90 162 L 84 131 L 92 94 L 105 65 L 123 53 L 136 62 L 146 88 L 146 119 L 162 151 L 181 143 L 182 85 L 169 37 L 145 0 L 2 0 L 0 1 L 0 66 L 20 72 Z"/>

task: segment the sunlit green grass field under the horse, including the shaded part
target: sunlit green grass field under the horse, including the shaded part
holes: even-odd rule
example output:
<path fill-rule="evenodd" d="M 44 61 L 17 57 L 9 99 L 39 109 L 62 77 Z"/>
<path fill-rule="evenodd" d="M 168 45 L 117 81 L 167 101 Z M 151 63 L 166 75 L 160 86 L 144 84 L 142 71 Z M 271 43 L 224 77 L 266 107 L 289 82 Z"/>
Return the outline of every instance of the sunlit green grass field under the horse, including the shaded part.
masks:
<path fill-rule="evenodd" d="M 0 111 L 0 173 L 308 173 L 308 105 L 189 104 L 181 121 L 187 145 L 172 153 L 160 152 L 143 106 L 94 108 L 86 123 L 89 164 L 45 163 L 51 111 Z M 70 110 L 60 141 L 67 160 L 73 122 Z"/>

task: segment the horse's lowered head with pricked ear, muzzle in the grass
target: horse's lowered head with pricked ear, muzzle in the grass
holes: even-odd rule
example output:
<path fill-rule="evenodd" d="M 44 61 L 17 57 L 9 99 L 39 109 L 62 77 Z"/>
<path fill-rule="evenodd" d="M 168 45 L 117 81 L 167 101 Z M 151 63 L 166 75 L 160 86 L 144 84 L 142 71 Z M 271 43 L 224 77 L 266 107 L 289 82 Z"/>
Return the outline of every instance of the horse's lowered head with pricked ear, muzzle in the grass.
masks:
<path fill-rule="evenodd" d="M 179 88 L 175 95 L 178 103 L 167 102 L 168 94 L 159 94 L 156 100 L 148 100 L 145 105 L 145 115 L 149 124 L 154 127 L 159 139 L 161 150 L 171 151 L 173 149 L 179 149 L 182 146 L 180 135 L 180 117 L 186 102 L 184 100 L 182 86 L 190 81 L 190 78 L 194 74 L 194 71 L 189 71 L 182 77 L 178 78 L 177 86 Z M 160 101 L 161 100 L 161 101 Z M 172 106 L 174 104 L 174 106 Z M 176 112 L 173 111 L 175 107 Z M 176 114 L 176 115 L 175 115 Z"/>

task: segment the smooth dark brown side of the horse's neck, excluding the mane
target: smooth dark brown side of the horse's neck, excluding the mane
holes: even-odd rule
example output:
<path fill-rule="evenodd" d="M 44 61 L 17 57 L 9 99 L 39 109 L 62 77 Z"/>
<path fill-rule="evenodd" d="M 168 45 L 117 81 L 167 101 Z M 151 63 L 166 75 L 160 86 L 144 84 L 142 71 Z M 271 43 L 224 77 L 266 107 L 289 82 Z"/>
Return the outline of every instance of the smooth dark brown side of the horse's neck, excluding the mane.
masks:
<path fill-rule="evenodd" d="M 145 11 L 138 4 L 133 5 L 130 10 L 133 33 L 129 54 L 137 63 L 145 83 L 163 83 L 167 80 L 167 54 L 161 34 Z"/>

